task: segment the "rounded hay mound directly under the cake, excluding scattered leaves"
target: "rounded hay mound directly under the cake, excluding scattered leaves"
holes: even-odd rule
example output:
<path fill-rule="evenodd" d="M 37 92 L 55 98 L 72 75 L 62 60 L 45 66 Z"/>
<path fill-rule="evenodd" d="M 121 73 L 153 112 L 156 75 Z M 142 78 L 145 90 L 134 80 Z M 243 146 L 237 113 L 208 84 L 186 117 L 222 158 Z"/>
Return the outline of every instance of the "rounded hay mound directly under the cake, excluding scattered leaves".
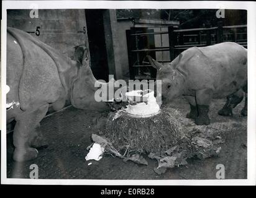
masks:
<path fill-rule="evenodd" d="M 170 108 L 150 118 L 132 118 L 122 111 L 119 116 L 110 113 L 104 136 L 120 153 L 126 153 L 125 157 L 132 153 L 163 155 L 187 138 L 180 120 L 180 113 Z"/>

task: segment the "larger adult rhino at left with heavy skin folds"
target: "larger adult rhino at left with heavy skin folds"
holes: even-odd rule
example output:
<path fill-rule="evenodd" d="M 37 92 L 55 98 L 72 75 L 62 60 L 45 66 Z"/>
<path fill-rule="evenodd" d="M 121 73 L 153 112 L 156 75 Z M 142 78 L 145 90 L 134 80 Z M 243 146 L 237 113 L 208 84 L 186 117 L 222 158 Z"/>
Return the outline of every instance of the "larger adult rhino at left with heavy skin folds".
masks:
<path fill-rule="evenodd" d="M 108 110 L 94 100 L 96 79 L 89 67 L 88 51 L 83 64 L 72 61 L 45 43 L 16 28 L 7 28 L 7 123 L 16 120 L 14 155 L 16 161 L 37 157 L 35 147 L 45 144 L 40 121 L 51 106 L 60 110 L 69 101 L 76 108 Z M 100 83 L 101 84 L 101 83 Z"/>

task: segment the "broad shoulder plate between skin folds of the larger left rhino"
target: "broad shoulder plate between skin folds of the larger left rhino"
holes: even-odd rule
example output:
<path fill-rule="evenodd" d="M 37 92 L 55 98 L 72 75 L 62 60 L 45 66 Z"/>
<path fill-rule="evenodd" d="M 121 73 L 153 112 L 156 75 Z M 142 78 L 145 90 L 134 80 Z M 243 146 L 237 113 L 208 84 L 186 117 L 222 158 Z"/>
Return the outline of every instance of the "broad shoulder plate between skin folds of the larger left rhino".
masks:
<path fill-rule="evenodd" d="M 22 30 L 7 28 L 7 33 L 17 40 L 24 57 L 18 90 L 21 110 L 25 111 L 33 108 L 34 105 L 38 106 L 45 102 L 51 103 L 57 100 L 60 87 L 63 84 L 65 85 L 65 79 L 63 77 L 62 79 L 61 77 L 56 78 L 56 76 L 60 76 L 58 75 L 58 68 L 56 68 L 56 65 L 47 64 L 47 62 L 57 59 L 57 55 L 53 51 L 55 57 L 50 56 L 50 46 L 48 51 L 45 51 L 41 47 L 41 41 L 36 40 Z M 46 54 L 42 54 L 42 50 Z M 54 62 L 56 64 L 56 61 Z M 67 86 L 65 87 L 67 88 Z"/>

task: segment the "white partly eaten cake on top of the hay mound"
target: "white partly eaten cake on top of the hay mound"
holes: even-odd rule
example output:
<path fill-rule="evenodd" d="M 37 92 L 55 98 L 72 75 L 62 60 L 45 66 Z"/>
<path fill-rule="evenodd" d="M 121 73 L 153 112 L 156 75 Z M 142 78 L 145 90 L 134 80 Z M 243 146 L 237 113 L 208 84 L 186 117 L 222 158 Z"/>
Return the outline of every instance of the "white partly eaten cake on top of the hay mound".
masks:
<path fill-rule="evenodd" d="M 127 92 L 126 98 L 129 102 L 126 112 L 130 115 L 148 117 L 160 112 L 153 90 Z"/>

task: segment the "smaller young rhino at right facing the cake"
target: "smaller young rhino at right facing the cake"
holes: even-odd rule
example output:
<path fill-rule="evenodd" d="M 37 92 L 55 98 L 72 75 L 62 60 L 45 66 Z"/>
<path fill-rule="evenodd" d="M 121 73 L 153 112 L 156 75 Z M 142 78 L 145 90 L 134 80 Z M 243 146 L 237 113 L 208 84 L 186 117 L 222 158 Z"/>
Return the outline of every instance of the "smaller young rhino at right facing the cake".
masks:
<path fill-rule="evenodd" d="M 187 118 L 197 125 L 208 125 L 209 105 L 213 98 L 225 98 L 227 102 L 218 111 L 231 116 L 232 109 L 242 101 L 241 111 L 247 116 L 247 49 L 237 43 L 224 42 L 206 47 L 186 49 L 167 65 L 148 56 L 157 69 L 157 79 L 162 80 L 163 103 L 183 95 L 190 104 Z"/>

